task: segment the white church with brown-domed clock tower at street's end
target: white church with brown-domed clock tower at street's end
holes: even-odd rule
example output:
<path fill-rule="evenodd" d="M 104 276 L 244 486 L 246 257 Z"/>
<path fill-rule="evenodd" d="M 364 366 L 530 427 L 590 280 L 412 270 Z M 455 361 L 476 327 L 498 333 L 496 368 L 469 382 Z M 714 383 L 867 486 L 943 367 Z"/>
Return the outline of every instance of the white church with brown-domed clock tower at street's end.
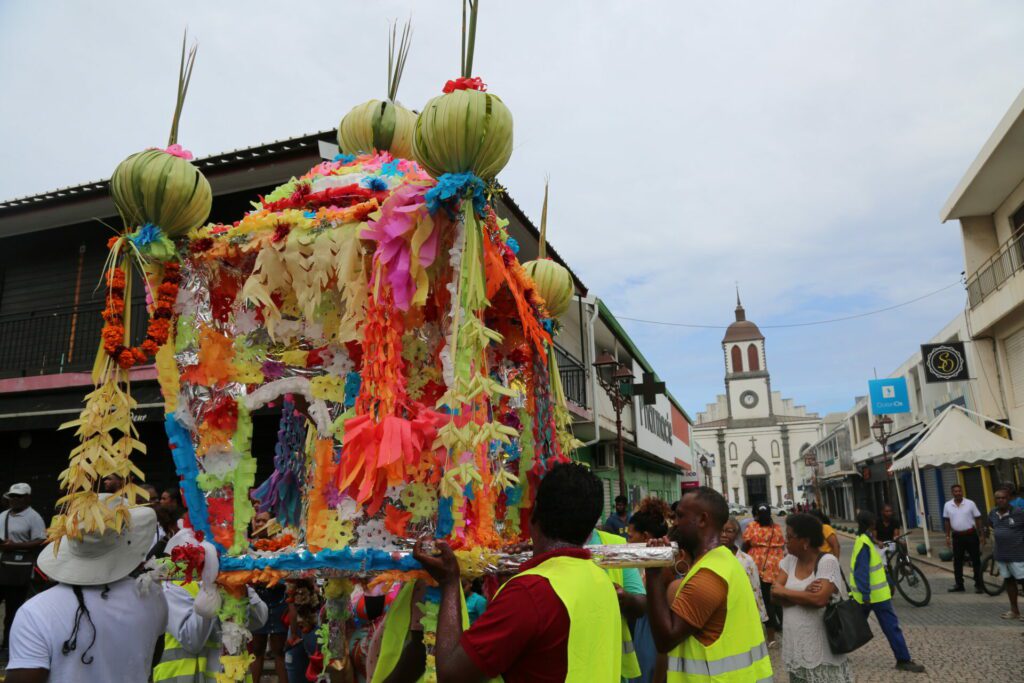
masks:
<path fill-rule="evenodd" d="M 772 391 L 765 336 L 736 293 L 736 321 L 722 339 L 725 394 L 697 413 L 693 439 L 715 454 L 711 483 L 730 503 L 800 502 L 803 454 L 823 436 L 821 418 Z"/>

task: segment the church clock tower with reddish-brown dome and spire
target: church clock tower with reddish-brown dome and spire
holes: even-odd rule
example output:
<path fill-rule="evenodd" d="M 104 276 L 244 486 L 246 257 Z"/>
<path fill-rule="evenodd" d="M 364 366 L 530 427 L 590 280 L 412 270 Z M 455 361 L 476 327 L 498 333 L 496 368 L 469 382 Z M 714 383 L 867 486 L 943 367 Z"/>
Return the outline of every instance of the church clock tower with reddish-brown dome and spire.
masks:
<path fill-rule="evenodd" d="M 722 339 L 725 352 L 725 393 L 729 421 L 765 420 L 773 416 L 771 380 L 765 356 L 765 336 L 746 319 L 736 292 L 736 322 Z"/>

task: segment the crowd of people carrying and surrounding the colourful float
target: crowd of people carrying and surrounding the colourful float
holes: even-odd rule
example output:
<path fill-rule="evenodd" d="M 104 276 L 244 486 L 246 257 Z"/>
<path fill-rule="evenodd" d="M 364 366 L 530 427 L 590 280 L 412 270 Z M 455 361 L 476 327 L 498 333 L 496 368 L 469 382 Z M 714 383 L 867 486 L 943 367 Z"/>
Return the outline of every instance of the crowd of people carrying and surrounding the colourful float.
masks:
<path fill-rule="evenodd" d="M 122 484 L 105 481 L 104 500 L 113 503 Z M 216 552 L 180 523 L 186 510 L 176 487 L 150 488 L 151 503 L 132 509 L 123 532 L 66 539 L 56 552 L 43 548 L 45 524 L 31 507 L 31 487 L 17 483 L 4 494 L 7 683 L 216 680 L 224 635 L 215 568 L 187 583 L 137 579 L 147 558 L 182 544 L 203 547 L 214 566 Z M 951 494 L 943 517 L 955 557 L 953 590 L 964 590 L 968 558 L 981 586 L 976 557 L 991 532 L 1011 604 L 1004 616 L 1021 618 L 1024 500 L 1000 486 L 995 508 L 982 519 L 959 486 Z M 445 543 L 419 542 L 414 555 L 431 580 L 356 590 L 344 677 L 332 680 L 421 680 L 428 660 L 421 603 L 431 590 L 439 599 L 432 648 L 439 681 L 770 681 L 770 650 L 780 645 L 790 681 L 844 683 L 853 680 L 852 667 L 829 646 L 823 612 L 847 599 L 876 615 L 898 670 L 925 671 L 910 655 L 885 573 L 881 546 L 901 530 L 891 506 L 878 518 L 858 511 L 857 537 L 844 558 L 816 507 L 781 519 L 760 506 L 740 523 L 708 487 L 672 505 L 645 499 L 632 513 L 625 498 L 614 504 L 602 522 L 600 480 L 581 465 L 553 468 L 532 509 L 532 558 L 511 577 L 468 580 Z M 257 514 L 251 538 L 258 547 L 282 531 L 269 515 Z M 675 543 L 679 560 L 643 571 L 591 561 L 589 547 L 627 542 Z M 41 578 L 48 590 L 26 602 Z M 260 680 L 265 666 L 281 682 L 316 679 L 324 666 L 315 635 L 323 588 L 296 579 L 247 589 L 251 680 Z"/>

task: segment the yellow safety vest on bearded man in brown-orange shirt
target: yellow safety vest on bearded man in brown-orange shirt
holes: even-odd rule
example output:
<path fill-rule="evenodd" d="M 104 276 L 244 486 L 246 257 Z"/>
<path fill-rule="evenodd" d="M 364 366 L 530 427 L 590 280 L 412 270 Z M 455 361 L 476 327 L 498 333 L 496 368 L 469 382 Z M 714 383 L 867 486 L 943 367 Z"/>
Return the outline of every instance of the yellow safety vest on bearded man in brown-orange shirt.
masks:
<path fill-rule="evenodd" d="M 746 571 L 728 548 L 719 546 L 693 564 L 679 591 L 700 569 L 714 571 L 728 586 L 725 628 L 711 645 L 694 637 L 676 645 L 669 652 L 668 683 L 770 683 L 771 660 Z"/>

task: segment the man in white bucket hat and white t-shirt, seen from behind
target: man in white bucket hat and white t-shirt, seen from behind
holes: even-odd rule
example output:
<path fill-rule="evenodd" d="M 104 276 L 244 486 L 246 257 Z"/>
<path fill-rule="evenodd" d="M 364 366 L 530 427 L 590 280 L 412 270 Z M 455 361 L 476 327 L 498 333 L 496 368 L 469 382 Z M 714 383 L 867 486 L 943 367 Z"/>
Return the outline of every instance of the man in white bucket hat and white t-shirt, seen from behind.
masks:
<path fill-rule="evenodd" d="M 167 602 L 159 587 L 143 593 L 131 574 L 145 560 L 157 514 L 132 508 L 129 517 L 120 533 L 83 533 L 63 539 L 56 553 L 52 544 L 43 549 L 39 568 L 58 583 L 18 610 L 4 683 L 150 680 Z"/>

